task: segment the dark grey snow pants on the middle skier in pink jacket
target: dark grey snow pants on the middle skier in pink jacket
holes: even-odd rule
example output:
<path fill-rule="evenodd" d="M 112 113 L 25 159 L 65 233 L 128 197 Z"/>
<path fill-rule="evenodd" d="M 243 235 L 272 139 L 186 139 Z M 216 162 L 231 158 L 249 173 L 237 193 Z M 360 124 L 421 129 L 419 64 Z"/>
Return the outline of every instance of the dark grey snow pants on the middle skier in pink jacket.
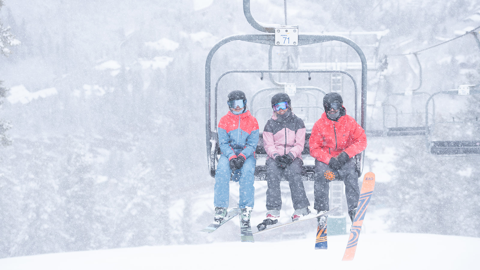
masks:
<path fill-rule="evenodd" d="M 274 159 L 266 160 L 265 165 L 267 171 L 267 210 L 280 210 L 282 208 L 282 196 L 280 192 L 280 181 L 282 180 L 282 176 L 285 176 L 285 179 L 290 186 L 293 209 L 302 209 L 310 205 L 301 177 L 303 165 L 302 160 L 295 158 L 292 164 L 288 165 L 285 169 L 278 167 Z"/>

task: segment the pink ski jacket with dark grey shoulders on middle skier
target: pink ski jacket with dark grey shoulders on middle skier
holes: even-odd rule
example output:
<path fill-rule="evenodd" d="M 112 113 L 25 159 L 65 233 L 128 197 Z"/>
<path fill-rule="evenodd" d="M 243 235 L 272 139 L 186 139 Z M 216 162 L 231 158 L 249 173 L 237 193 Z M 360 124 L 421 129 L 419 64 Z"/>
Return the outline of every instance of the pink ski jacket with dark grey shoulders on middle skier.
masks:
<path fill-rule="evenodd" d="M 277 117 L 275 112 L 265 124 L 262 137 L 269 158 L 289 154 L 293 159 L 301 157 L 305 145 L 305 124 L 293 112 L 285 119 Z"/>

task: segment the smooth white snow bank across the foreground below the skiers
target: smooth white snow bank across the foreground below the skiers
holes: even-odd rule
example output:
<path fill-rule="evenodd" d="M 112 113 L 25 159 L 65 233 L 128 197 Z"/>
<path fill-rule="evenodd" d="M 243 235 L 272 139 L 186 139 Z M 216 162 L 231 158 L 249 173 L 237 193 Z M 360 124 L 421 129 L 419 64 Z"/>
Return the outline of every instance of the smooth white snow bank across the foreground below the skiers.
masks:
<path fill-rule="evenodd" d="M 221 230 L 221 229 L 220 229 Z M 233 232 L 232 232 L 233 233 Z M 271 232 L 276 233 L 275 231 Z M 328 238 L 328 250 L 307 239 L 255 243 L 144 246 L 0 259 L 2 270 L 127 269 L 477 269 L 480 238 L 362 233 L 353 261 L 343 262 L 348 235 Z M 194 233 L 194 235 L 197 233 Z M 213 235 L 213 234 L 212 234 Z M 240 237 L 239 237 L 240 239 Z M 214 262 L 216 261 L 216 263 Z"/>

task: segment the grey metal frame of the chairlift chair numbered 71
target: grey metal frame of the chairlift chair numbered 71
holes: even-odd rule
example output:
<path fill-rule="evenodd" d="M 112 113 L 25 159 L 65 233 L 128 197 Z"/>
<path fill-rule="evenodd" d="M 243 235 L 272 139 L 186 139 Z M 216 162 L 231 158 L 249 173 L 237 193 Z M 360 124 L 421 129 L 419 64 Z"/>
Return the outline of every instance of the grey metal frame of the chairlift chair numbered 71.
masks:
<path fill-rule="evenodd" d="M 262 32 L 265 32 L 267 34 L 256 34 L 256 35 L 233 35 L 229 37 L 225 37 L 222 40 L 220 40 L 216 45 L 213 46 L 212 49 L 210 49 L 210 52 L 207 55 L 206 61 L 205 61 L 205 133 L 206 133 L 206 151 L 207 151 L 207 160 L 208 160 L 208 166 L 209 166 L 209 171 L 210 175 L 212 177 L 215 177 L 215 170 L 216 170 L 216 162 L 218 160 L 218 155 L 220 154 L 220 149 L 218 145 L 218 134 L 216 132 L 217 128 L 217 98 L 218 98 L 218 83 L 220 80 L 227 74 L 241 74 L 241 73 L 250 73 L 250 74 L 258 74 L 261 79 L 264 78 L 264 74 L 273 74 L 273 73 L 279 73 L 279 74 L 286 74 L 286 73 L 295 73 L 295 74 L 306 74 L 308 75 L 308 78 L 311 79 L 312 74 L 316 73 L 337 73 L 337 74 L 345 74 L 350 79 L 352 79 L 354 83 L 354 100 L 355 100 L 355 120 L 359 122 L 359 115 L 358 115 L 358 104 L 360 103 L 360 126 L 366 130 L 366 91 L 367 91 L 367 60 L 365 58 L 365 55 L 363 54 L 363 51 L 360 49 L 360 47 L 353 42 L 351 39 L 339 35 L 324 35 L 324 34 L 299 34 L 298 33 L 298 26 L 285 26 L 285 25 L 266 25 L 266 24 L 261 24 L 257 21 L 255 21 L 252 18 L 252 15 L 250 13 L 250 0 L 243 0 L 243 9 L 244 9 L 244 14 L 247 19 L 247 21 L 250 23 L 250 25 L 253 26 L 253 28 L 260 30 Z M 293 31 L 293 30 L 295 31 Z M 276 33 L 279 33 L 279 31 L 286 31 L 289 33 L 296 32 L 296 35 L 293 34 L 291 36 L 292 40 L 295 40 L 295 44 L 290 44 L 288 46 L 304 46 L 304 45 L 312 45 L 312 44 L 321 44 L 324 42 L 331 42 L 331 41 L 338 41 L 342 42 L 352 49 L 357 53 L 358 57 L 360 58 L 360 90 L 361 90 L 361 96 L 360 96 L 360 102 L 358 100 L 358 88 L 357 84 L 355 82 L 354 77 L 349 74 L 346 71 L 343 70 L 320 70 L 320 69 L 300 69 L 300 70 L 273 70 L 273 69 L 268 69 L 268 70 L 229 70 L 227 72 L 224 72 L 219 76 L 219 78 L 216 81 L 215 84 L 215 90 L 214 90 L 214 95 L 212 95 L 212 78 L 211 78 L 211 70 L 212 70 L 212 59 L 215 53 L 220 49 L 223 45 L 228 44 L 229 42 L 233 41 L 242 41 L 242 42 L 252 42 L 252 43 L 258 43 L 258 44 L 264 44 L 268 46 L 283 46 L 281 45 L 280 42 L 282 42 L 282 39 L 279 39 L 278 36 L 276 37 Z M 285 41 L 285 39 L 283 40 Z M 299 87 L 301 89 L 301 87 Z M 307 89 L 307 88 L 306 88 Z M 312 88 L 310 88 L 311 90 Z M 323 98 L 323 96 L 321 97 Z M 214 103 L 214 111 L 212 112 L 211 106 L 212 102 Z M 214 123 L 212 123 L 212 116 L 214 118 Z M 305 139 L 305 147 L 303 150 L 304 155 L 310 154 L 310 148 L 308 146 L 308 139 L 310 137 L 310 132 L 307 132 L 306 134 L 306 139 Z M 259 144 L 260 145 L 260 144 Z M 256 154 L 261 155 L 264 153 L 263 146 L 257 147 Z M 360 172 L 359 176 L 362 171 L 363 167 L 363 155 L 364 152 L 358 154 L 355 157 L 356 164 L 357 164 L 357 169 Z M 305 180 L 313 180 L 313 165 L 305 166 L 304 165 L 304 170 L 305 170 Z M 259 165 L 255 169 L 255 180 L 264 180 L 265 179 L 265 171 L 264 171 L 264 166 Z"/>

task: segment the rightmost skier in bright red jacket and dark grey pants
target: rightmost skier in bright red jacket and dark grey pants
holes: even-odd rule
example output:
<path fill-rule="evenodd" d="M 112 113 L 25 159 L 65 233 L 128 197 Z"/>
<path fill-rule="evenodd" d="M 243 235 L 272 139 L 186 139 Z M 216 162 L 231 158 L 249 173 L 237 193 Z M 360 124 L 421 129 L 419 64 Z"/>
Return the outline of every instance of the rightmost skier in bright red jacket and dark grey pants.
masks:
<path fill-rule="evenodd" d="M 315 158 L 315 183 L 313 208 L 317 213 L 329 210 L 329 182 L 342 180 L 345 184 L 348 215 L 353 222 L 360 197 L 358 173 L 355 159 L 358 153 L 367 147 L 365 131 L 347 115 L 340 94 L 331 92 L 324 96 L 325 112 L 315 122 L 310 136 L 310 155 Z M 326 217 L 318 218 L 318 225 L 323 228 Z"/>

